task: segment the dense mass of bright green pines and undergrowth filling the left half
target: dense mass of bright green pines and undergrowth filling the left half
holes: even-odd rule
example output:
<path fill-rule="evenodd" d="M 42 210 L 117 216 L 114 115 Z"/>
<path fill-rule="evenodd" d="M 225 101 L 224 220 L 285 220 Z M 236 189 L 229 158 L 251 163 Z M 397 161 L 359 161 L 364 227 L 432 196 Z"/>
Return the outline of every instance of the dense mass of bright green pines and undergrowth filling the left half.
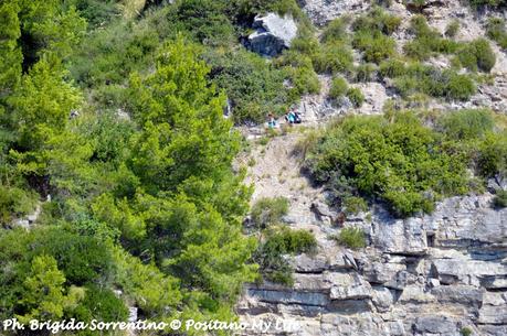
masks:
<path fill-rule="evenodd" d="M 241 117 L 255 119 L 315 76 L 310 63 L 232 47 L 253 13 L 303 20 L 293 1 L 239 2 L 0 4 L 2 318 L 116 321 L 127 304 L 155 321 L 233 316 L 242 283 L 258 275 L 225 98 L 239 111 L 256 104 L 257 117 Z M 38 224 L 13 228 L 36 205 Z M 279 235 L 281 253 L 315 243 Z"/>

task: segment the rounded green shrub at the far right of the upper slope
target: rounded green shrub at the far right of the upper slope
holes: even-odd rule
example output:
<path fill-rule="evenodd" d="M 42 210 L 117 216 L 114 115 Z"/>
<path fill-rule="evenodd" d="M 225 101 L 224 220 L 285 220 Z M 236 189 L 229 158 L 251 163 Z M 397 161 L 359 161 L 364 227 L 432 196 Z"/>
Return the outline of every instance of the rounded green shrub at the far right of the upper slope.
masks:
<path fill-rule="evenodd" d="M 495 66 L 496 56 L 486 39 L 477 39 L 466 44 L 457 57 L 464 67 L 489 73 Z"/>

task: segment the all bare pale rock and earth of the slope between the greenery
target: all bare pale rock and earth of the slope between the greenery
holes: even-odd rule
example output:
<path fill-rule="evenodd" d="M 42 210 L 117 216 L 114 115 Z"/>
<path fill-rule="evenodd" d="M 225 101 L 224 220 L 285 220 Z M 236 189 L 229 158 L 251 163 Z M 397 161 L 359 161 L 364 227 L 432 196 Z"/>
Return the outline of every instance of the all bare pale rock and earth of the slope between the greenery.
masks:
<path fill-rule="evenodd" d="M 484 36 L 492 13 L 474 13 L 460 1 L 425 1 L 423 14 L 443 33 L 457 19 L 458 41 Z M 300 1 L 315 25 L 368 10 L 365 1 Z M 389 11 L 402 18 L 394 34 L 398 47 L 410 41 L 405 32 L 411 12 L 401 1 Z M 498 13 L 494 13 L 497 15 Z M 493 82 L 479 84 L 466 102 L 431 99 L 424 107 L 454 110 L 489 107 L 507 110 L 507 58 L 494 46 Z M 429 64 L 448 66 L 444 56 Z M 380 113 L 385 99 L 397 98 L 388 83 L 357 84 L 366 96 L 359 109 L 337 108 L 326 99 L 330 77 L 320 76 L 323 91 L 304 97 L 298 111 L 307 126 L 323 127 L 329 117 L 344 113 Z M 507 335 L 507 209 L 490 206 L 493 195 L 467 195 L 440 202 L 432 215 L 395 219 L 381 206 L 340 223 L 325 203 L 325 191 L 315 188 L 300 173 L 297 142 L 292 131 L 258 144 L 252 131 L 247 182 L 255 186 L 253 203 L 261 197 L 289 199 L 284 223 L 310 230 L 318 241 L 315 254 L 291 257 L 294 286 L 264 282 L 249 284 L 236 305 L 242 321 L 271 323 L 270 335 Z M 257 143 L 257 144 L 255 144 Z M 492 187 L 506 187 L 490 181 Z M 351 250 L 330 239 L 345 227 L 367 232 L 368 248 Z M 283 324 L 285 322 L 285 325 Z M 249 329 L 245 335 L 258 335 Z"/>

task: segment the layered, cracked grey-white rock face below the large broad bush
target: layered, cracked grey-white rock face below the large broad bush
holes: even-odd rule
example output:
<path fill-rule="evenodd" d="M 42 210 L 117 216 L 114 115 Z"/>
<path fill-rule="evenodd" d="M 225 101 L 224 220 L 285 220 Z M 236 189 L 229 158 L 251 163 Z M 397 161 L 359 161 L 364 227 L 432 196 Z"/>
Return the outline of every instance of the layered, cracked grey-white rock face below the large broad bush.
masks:
<path fill-rule="evenodd" d="M 346 221 L 368 232 L 370 247 L 294 257 L 294 288 L 249 285 L 241 319 L 297 321 L 285 335 L 460 336 L 465 326 L 507 335 L 507 209 L 493 209 L 490 199 L 452 197 L 420 218 L 376 209 L 370 221 Z"/>

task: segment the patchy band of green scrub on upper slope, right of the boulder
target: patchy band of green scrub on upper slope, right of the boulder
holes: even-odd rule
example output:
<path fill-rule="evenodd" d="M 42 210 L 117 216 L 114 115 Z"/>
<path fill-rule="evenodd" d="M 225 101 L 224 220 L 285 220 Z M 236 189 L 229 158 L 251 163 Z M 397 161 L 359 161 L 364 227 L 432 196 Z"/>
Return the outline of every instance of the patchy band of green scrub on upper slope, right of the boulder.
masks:
<path fill-rule="evenodd" d="M 352 22 L 348 17 L 331 21 L 321 34 L 324 45 L 334 43 L 342 45 L 342 52 L 335 59 L 347 59 L 347 47 L 361 52 L 363 62 L 351 66 L 350 62 L 339 62 L 339 66 L 329 68 L 316 67 L 317 72 L 340 73 L 350 82 L 369 82 L 380 77 L 391 80 L 393 87 L 403 99 L 413 100 L 414 97 L 426 95 L 447 100 L 467 100 L 476 91 L 474 77 L 467 73 L 462 74 L 462 67 L 471 72 L 489 72 L 496 63 L 489 43 L 478 39 L 469 43 L 458 43 L 452 40 L 457 33 L 458 23 L 452 22 L 447 26 L 447 37 L 432 29 L 423 15 L 414 15 L 411 20 L 409 32 L 413 40 L 404 44 L 404 55 L 397 52 L 394 40 L 390 36 L 399 29 L 400 19 L 388 14 L 382 8 L 373 7 Z M 349 36 L 348 28 L 352 31 Z M 423 62 L 432 56 L 447 54 L 452 56 L 451 68 L 437 68 Z M 324 57 L 321 54 L 320 57 Z M 314 57 L 315 58 L 315 57 Z M 317 57 L 318 59 L 318 57 Z M 351 58 L 350 58 L 351 59 Z M 319 63 L 316 63 L 319 64 Z M 329 98 L 339 100 L 344 94 L 345 84 L 340 76 L 331 83 Z M 357 89 L 350 89 L 352 105 L 359 107 L 362 97 Z"/>

